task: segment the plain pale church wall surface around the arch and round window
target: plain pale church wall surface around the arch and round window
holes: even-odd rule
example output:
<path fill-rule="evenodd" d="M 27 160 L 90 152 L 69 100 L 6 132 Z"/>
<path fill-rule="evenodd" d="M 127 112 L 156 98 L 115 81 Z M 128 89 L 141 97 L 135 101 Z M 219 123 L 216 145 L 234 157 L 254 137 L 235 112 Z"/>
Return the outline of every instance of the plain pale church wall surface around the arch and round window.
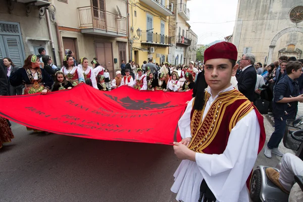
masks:
<path fill-rule="evenodd" d="M 251 53 L 256 56 L 256 61 L 264 63 L 269 56 L 269 46 L 273 38 L 283 29 L 299 27 L 303 30 L 303 22 L 298 24 L 289 20 L 290 10 L 297 5 L 303 5 L 301 0 L 239 0 L 238 13 L 233 32 L 232 42 L 238 48 L 238 57 L 243 54 L 244 47 L 251 47 Z M 270 20 L 268 20 L 270 19 Z M 271 61 L 278 59 L 278 51 L 289 44 L 303 50 L 302 34 L 288 32 L 276 42 Z"/>

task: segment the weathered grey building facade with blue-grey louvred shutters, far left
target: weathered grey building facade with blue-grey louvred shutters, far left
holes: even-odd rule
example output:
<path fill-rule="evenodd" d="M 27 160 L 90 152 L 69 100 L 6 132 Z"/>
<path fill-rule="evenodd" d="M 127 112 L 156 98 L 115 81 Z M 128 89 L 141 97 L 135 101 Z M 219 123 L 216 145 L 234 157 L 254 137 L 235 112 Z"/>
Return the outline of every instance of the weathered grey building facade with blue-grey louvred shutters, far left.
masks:
<path fill-rule="evenodd" d="M 46 53 L 54 57 L 46 16 L 43 15 L 50 3 L 21 2 L 0 0 L 3 6 L 0 10 L 0 59 L 11 58 L 17 67 L 22 67 L 29 55 L 38 55 L 39 47 L 44 47 Z"/>

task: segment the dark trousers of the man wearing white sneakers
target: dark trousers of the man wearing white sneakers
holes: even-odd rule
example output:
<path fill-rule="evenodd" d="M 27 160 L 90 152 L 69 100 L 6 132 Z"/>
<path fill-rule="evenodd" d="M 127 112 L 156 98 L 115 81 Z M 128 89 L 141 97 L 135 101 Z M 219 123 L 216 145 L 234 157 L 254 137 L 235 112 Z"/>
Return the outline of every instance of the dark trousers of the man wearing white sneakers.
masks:
<path fill-rule="evenodd" d="M 270 136 L 270 139 L 267 143 L 267 147 L 270 149 L 278 148 L 284 136 L 284 132 L 286 128 L 286 119 L 282 121 L 281 119 L 274 118 L 274 121 L 275 121 L 275 131 Z"/>

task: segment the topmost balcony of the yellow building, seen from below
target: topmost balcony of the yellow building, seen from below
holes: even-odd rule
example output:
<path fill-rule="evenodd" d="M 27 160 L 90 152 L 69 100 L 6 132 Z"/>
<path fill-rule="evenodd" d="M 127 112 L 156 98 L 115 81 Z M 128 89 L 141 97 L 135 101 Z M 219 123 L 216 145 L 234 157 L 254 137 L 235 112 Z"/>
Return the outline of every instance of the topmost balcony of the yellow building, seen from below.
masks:
<path fill-rule="evenodd" d="M 165 16 L 173 15 L 174 5 L 170 1 L 166 1 L 166 0 L 140 0 L 140 1 Z M 166 4 L 166 2 L 168 4 Z"/>

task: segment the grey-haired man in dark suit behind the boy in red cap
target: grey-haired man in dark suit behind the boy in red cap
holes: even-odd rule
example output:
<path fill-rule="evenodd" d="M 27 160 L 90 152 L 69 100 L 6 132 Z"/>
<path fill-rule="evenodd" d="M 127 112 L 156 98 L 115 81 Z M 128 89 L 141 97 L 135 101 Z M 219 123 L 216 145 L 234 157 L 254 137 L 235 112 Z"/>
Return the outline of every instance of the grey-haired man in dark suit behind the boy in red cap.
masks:
<path fill-rule="evenodd" d="M 255 86 L 257 82 L 257 72 L 255 68 L 255 56 L 252 54 L 244 54 L 240 61 L 242 70 L 237 78 L 239 91 L 254 102 L 255 99 Z"/>

